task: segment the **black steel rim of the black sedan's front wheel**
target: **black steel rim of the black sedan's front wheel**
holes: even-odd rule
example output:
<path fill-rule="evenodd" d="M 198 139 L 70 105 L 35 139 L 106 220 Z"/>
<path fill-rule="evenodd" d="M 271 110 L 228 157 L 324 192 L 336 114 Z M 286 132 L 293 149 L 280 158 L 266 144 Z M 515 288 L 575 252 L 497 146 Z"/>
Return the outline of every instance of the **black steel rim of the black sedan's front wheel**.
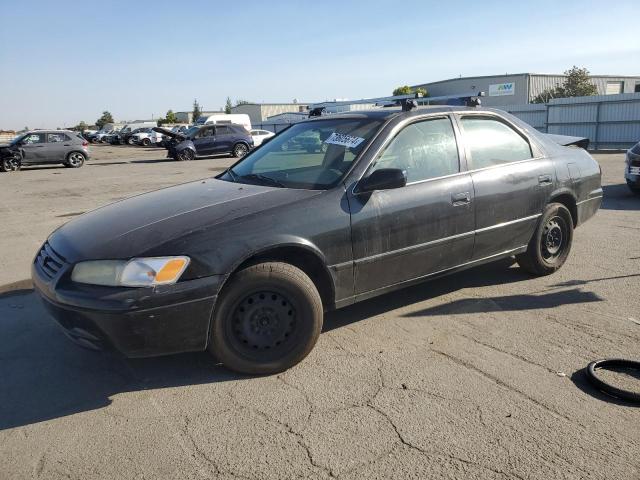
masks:
<path fill-rule="evenodd" d="M 228 331 L 235 348 L 249 354 L 286 351 L 296 330 L 296 308 L 286 295 L 262 290 L 240 300 Z"/>

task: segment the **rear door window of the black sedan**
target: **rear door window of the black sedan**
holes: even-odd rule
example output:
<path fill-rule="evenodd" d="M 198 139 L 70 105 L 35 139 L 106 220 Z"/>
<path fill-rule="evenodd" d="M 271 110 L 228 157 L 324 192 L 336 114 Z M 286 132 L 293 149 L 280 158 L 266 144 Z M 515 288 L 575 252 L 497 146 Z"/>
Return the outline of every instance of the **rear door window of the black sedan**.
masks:
<path fill-rule="evenodd" d="M 462 117 L 472 169 L 532 158 L 531 146 L 509 125 L 489 117 Z"/>

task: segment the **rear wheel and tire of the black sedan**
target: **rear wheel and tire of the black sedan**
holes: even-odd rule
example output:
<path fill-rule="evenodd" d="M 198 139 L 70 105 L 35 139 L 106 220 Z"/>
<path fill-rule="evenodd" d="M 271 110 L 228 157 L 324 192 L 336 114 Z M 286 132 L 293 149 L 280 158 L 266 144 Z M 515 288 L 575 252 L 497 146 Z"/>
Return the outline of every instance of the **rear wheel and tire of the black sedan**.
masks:
<path fill-rule="evenodd" d="M 540 218 L 527 251 L 516 255 L 516 261 L 533 275 L 550 275 L 567 260 L 572 241 L 571 213 L 561 203 L 550 203 Z"/>

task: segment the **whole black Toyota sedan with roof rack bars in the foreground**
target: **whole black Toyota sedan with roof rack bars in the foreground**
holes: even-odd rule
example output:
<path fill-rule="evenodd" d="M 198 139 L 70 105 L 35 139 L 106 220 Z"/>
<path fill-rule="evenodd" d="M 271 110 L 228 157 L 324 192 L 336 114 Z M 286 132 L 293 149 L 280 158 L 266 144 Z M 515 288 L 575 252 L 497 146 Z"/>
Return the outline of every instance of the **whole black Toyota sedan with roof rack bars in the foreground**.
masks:
<path fill-rule="evenodd" d="M 295 147 L 309 138 L 321 148 Z M 480 108 L 303 121 L 216 178 L 72 220 L 33 282 L 84 346 L 208 349 L 240 372 L 282 371 L 313 348 L 324 311 L 503 257 L 560 268 L 602 200 L 575 140 Z"/>

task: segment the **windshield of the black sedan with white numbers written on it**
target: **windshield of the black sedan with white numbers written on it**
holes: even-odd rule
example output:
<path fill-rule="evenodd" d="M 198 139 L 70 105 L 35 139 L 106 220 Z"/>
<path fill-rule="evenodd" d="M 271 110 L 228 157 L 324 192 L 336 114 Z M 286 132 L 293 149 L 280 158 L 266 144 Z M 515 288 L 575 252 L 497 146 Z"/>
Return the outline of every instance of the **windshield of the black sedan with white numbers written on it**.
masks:
<path fill-rule="evenodd" d="M 244 157 L 220 178 L 326 190 L 342 179 L 382 122 L 340 118 L 295 124 Z"/>

